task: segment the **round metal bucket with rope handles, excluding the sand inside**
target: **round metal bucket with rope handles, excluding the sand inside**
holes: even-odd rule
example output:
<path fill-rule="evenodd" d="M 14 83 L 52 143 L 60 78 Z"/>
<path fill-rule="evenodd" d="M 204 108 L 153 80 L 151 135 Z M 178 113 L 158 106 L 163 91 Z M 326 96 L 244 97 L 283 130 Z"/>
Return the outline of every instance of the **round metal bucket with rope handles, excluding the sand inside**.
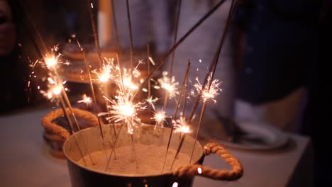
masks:
<path fill-rule="evenodd" d="M 116 125 L 116 132 L 120 129 L 120 125 Z M 110 140 L 114 140 L 114 130 L 109 125 L 102 125 L 104 134 L 104 142 L 106 147 L 111 147 Z M 170 129 L 155 130 L 154 125 L 141 125 L 135 129 L 135 143 L 146 145 L 165 145 L 167 146 Z M 173 134 L 170 147 L 177 149 L 179 146 L 179 135 Z M 76 139 L 76 140 L 75 140 Z M 79 142 L 79 148 L 77 147 Z M 85 146 L 84 145 L 85 142 Z M 194 147 L 194 138 L 187 135 L 184 138 L 182 149 L 180 152 L 190 155 Z M 121 130 L 116 147 L 131 145 L 131 136 L 126 130 Z M 102 151 L 104 149 L 100 135 L 99 127 L 87 128 L 70 136 L 63 145 L 63 152 L 67 158 L 70 180 L 73 187 L 82 186 L 192 186 L 194 176 L 175 176 L 172 171 L 163 174 L 154 175 L 133 175 L 133 174 L 116 174 L 106 173 L 104 171 L 88 168 L 82 164 L 78 164 L 82 154 L 87 156 L 89 152 Z M 82 152 L 82 154 L 80 153 Z M 118 158 L 121 159 L 121 158 Z M 197 141 L 192 157 L 192 164 L 202 164 L 204 153 L 200 143 Z M 139 164 L 139 161 L 138 161 Z M 188 161 L 189 164 L 189 161 Z M 177 184 L 177 185 L 176 185 Z"/>

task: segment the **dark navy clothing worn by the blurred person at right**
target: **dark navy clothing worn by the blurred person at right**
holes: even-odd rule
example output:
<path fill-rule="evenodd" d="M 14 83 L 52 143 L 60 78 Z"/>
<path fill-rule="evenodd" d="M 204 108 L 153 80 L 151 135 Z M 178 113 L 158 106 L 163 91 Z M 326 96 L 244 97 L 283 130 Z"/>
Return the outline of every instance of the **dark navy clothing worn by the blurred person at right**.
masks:
<path fill-rule="evenodd" d="M 306 86 L 307 67 L 318 58 L 318 5 L 315 1 L 251 1 L 239 8 L 246 46 L 238 98 L 267 103 Z"/>

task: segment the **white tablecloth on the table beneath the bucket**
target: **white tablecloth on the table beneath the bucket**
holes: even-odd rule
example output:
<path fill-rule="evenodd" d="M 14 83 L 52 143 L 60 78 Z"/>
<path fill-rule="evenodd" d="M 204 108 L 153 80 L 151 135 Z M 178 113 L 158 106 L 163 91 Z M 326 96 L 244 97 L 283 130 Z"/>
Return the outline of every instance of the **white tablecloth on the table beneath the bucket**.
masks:
<path fill-rule="evenodd" d="M 65 160 L 48 153 L 43 141 L 40 118 L 52 109 L 38 109 L 0 116 L 0 186 L 70 186 Z M 197 176 L 199 186 L 312 186 L 313 160 L 308 137 L 289 135 L 285 149 L 250 152 L 228 149 L 243 164 L 244 176 L 238 181 L 214 181 Z M 216 155 L 204 159 L 205 166 L 228 169 Z"/>

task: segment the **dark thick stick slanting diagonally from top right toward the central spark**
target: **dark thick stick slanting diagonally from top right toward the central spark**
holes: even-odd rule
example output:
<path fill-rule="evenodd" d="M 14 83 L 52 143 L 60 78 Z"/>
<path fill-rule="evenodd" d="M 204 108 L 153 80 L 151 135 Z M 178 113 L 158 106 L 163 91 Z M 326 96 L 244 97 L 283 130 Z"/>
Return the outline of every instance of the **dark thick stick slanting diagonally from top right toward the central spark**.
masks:
<path fill-rule="evenodd" d="M 170 56 L 172 54 L 172 52 L 192 33 L 194 32 L 194 30 L 196 30 L 201 23 L 203 23 L 206 18 L 209 18 L 209 16 L 211 16 L 212 13 L 214 13 L 219 6 L 221 6 L 221 4 L 223 4 L 226 0 L 221 0 L 218 2 L 218 4 L 216 4 L 216 6 L 214 6 L 214 8 L 212 8 L 209 12 L 207 12 L 201 19 L 199 19 L 199 21 L 197 21 L 197 23 L 194 24 L 194 26 L 192 26 L 192 28 L 190 28 L 187 33 L 185 33 L 182 38 L 180 38 L 175 45 L 173 45 L 173 47 L 167 52 L 167 54 L 162 57 L 162 59 L 160 60 L 159 63 L 157 63 L 155 65 L 155 67 L 153 67 L 153 69 L 151 69 L 150 74 L 148 74 L 148 77 L 143 81 L 142 84 L 140 84 L 140 90 L 143 89 L 143 86 L 145 86 L 145 84 L 147 83 L 148 79 L 150 79 L 153 75 L 153 73 L 157 70 L 160 69 L 160 67 L 162 67 L 162 64 L 165 63 L 165 60 L 167 59 L 168 56 Z M 135 96 L 134 96 L 135 98 Z"/>

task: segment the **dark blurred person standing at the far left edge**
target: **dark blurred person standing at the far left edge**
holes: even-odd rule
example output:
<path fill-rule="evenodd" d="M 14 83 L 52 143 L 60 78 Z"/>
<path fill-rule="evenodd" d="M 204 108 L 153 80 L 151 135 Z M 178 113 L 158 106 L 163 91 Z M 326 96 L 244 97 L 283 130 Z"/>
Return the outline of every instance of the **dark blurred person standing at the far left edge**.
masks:
<path fill-rule="evenodd" d="M 20 47 L 17 43 L 19 20 L 12 7 L 13 1 L 0 1 L 1 113 L 26 104 Z"/>

